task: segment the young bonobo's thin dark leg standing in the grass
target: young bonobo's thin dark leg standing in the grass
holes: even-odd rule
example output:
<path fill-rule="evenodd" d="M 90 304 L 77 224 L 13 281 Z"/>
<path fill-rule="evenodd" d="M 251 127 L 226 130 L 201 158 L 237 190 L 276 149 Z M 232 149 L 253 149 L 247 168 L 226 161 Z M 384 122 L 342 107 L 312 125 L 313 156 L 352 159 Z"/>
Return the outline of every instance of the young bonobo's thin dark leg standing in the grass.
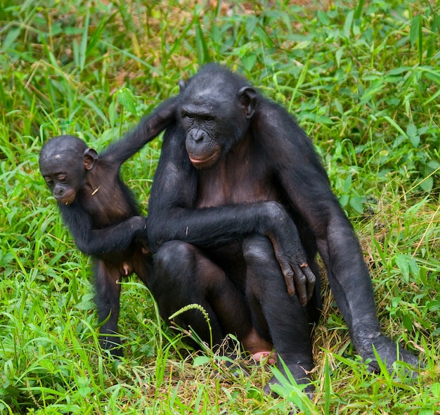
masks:
<path fill-rule="evenodd" d="M 121 274 L 119 269 L 108 266 L 102 260 L 95 264 L 95 302 L 98 321 L 105 324 L 100 329 L 101 347 L 110 350 L 113 356 L 122 356 L 121 339 L 117 335 L 117 319 L 119 318 L 119 284 Z M 109 317 L 110 316 L 110 317 Z"/>

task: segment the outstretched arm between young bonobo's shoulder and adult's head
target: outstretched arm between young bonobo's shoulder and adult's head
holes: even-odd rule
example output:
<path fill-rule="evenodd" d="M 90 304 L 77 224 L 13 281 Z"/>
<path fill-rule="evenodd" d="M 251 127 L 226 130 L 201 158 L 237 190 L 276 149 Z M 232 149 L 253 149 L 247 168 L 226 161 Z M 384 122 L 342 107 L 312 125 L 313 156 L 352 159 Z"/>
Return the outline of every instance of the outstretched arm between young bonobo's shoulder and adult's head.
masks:
<path fill-rule="evenodd" d="M 122 139 L 111 143 L 99 156 L 110 165 L 121 165 L 153 140 L 175 120 L 177 97 L 168 98 L 153 113 L 142 117 L 138 125 Z"/>

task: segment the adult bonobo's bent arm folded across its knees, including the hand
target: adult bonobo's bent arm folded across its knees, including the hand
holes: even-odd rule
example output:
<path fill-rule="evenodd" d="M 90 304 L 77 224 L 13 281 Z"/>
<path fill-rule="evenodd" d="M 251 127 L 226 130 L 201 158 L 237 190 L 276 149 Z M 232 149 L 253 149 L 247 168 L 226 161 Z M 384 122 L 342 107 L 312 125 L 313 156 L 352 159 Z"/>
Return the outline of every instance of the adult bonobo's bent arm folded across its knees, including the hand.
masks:
<path fill-rule="evenodd" d="M 150 248 L 157 250 L 172 240 L 209 248 L 248 234 L 264 234 L 274 245 L 287 290 L 292 295 L 296 286 L 305 304 L 313 293 L 315 276 L 308 267 L 300 269 L 306 264 L 306 255 L 297 227 L 283 205 L 268 201 L 196 208 L 198 172 L 190 165 L 185 137 L 179 124 L 164 136 L 148 206 Z"/>

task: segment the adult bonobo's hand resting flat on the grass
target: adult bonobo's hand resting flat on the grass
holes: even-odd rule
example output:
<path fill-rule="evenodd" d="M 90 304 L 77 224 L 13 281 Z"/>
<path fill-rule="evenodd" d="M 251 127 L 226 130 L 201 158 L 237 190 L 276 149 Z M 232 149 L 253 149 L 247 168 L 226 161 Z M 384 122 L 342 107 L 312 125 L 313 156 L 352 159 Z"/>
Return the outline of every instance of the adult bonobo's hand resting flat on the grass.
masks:
<path fill-rule="evenodd" d="M 356 345 L 358 354 L 361 355 L 364 360 L 371 359 L 368 365 L 370 371 L 380 372 L 380 366 L 373 351 L 373 346 L 382 362 L 387 365 L 389 371 L 392 370 L 393 363 L 396 362 L 396 360 L 412 364 L 413 366 L 419 365 L 418 357 L 415 357 L 403 349 L 403 347 L 399 347 L 399 356 L 397 356 L 398 345 L 383 334 L 377 333 L 376 336 L 373 335 L 368 336 L 368 338 L 363 338 L 362 342 L 357 342 Z"/>

